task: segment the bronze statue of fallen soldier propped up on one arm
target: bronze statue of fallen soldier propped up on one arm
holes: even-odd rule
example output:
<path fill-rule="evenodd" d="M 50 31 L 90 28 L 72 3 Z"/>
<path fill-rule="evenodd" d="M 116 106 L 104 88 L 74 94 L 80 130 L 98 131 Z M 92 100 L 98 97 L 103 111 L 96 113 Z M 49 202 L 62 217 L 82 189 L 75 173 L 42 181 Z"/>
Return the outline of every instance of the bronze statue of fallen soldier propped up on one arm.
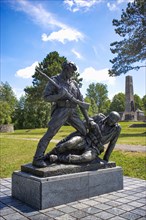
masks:
<path fill-rule="evenodd" d="M 97 159 L 98 155 L 104 151 L 103 145 L 108 143 L 103 157 L 103 160 L 108 162 L 121 131 L 117 123 L 119 119 L 120 115 L 115 111 L 107 117 L 101 113 L 94 116 L 86 136 L 73 132 L 46 154 L 45 160 L 69 164 L 91 162 Z"/>

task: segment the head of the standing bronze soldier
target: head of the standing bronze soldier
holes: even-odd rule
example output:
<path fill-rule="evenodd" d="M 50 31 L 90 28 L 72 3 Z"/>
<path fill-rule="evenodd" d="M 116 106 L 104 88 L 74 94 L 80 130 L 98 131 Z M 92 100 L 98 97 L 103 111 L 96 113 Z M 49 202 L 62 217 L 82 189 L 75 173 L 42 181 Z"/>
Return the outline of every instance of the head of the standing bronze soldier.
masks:
<path fill-rule="evenodd" d="M 65 61 L 62 64 L 62 70 L 67 75 L 67 78 L 71 78 L 74 72 L 77 70 L 77 67 L 74 63 L 70 61 Z"/>

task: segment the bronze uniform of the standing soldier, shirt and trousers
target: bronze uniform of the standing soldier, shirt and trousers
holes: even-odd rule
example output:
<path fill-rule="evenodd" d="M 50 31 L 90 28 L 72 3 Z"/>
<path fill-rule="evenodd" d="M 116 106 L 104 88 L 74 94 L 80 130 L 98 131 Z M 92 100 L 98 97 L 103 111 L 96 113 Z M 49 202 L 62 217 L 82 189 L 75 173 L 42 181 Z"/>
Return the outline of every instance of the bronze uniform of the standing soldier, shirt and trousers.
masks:
<path fill-rule="evenodd" d="M 79 87 L 74 80 L 66 82 L 61 75 L 56 75 L 52 79 L 60 86 L 65 88 L 74 98 L 83 101 Z M 66 122 L 72 125 L 82 135 L 86 135 L 86 127 L 77 114 L 77 104 L 70 101 L 66 95 L 59 97 L 59 90 L 48 82 L 45 91 L 44 99 L 52 103 L 51 119 L 48 123 L 48 130 L 40 139 L 35 153 L 35 159 L 43 159 L 44 152 L 58 130 Z"/>

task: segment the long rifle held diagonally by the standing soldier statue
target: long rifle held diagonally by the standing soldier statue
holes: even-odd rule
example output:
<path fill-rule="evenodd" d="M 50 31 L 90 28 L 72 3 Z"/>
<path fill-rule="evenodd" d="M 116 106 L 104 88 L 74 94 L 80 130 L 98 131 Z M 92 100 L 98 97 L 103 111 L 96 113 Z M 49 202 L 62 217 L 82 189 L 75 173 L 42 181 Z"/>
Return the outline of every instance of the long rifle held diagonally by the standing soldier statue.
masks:
<path fill-rule="evenodd" d="M 58 90 L 62 88 L 62 87 L 59 86 L 53 79 L 51 79 L 51 78 L 50 78 L 49 76 L 47 76 L 44 72 L 42 72 L 38 67 L 36 67 L 36 71 L 38 71 L 41 75 L 45 76 L 45 77 L 49 80 L 49 82 L 50 82 L 52 85 L 54 85 Z M 73 95 L 71 95 L 67 90 L 66 90 L 66 96 L 67 96 L 67 98 L 68 98 L 70 101 L 72 101 L 72 102 L 78 104 L 81 108 L 84 108 L 84 109 L 88 109 L 88 108 L 89 108 L 89 105 L 90 105 L 89 103 L 82 102 L 82 101 L 80 101 L 80 100 L 74 98 Z"/>

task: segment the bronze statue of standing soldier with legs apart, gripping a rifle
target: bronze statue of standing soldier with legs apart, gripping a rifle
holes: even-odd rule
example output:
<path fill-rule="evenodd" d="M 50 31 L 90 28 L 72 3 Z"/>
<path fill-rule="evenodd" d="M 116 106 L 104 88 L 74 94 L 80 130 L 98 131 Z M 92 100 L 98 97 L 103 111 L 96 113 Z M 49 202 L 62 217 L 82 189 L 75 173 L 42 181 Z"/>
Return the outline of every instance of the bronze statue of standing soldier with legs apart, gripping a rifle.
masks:
<path fill-rule="evenodd" d="M 87 133 L 87 128 L 77 114 L 77 104 L 79 104 L 87 124 L 89 124 L 90 119 L 84 108 L 86 105 L 84 105 L 82 94 L 76 81 L 72 80 L 76 70 L 77 67 L 75 64 L 68 61 L 64 62 L 62 72 L 52 77 L 45 88 L 44 99 L 53 105 L 48 130 L 40 139 L 32 162 L 36 167 L 47 166 L 44 161 L 44 153 L 47 146 L 66 122 L 72 125 L 83 136 Z"/>

